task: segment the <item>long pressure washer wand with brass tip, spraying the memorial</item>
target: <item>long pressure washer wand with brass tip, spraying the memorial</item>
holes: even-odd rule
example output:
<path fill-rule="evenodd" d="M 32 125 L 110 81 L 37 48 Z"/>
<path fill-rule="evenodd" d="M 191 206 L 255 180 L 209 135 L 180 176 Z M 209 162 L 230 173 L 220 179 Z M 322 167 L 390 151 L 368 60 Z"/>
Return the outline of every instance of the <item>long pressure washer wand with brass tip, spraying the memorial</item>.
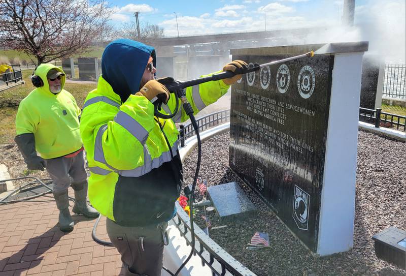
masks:
<path fill-rule="evenodd" d="M 270 65 L 274 65 L 274 64 L 279 64 L 279 63 L 285 63 L 288 62 L 289 60 L 293 60 L 293 59 L 297 59 L 297 58 L 301 58 L 301 57 L 305 57 L 305 56 L 309 56 L 312 57 L 314 56 L 314 52 L 310 51 L 308 53 L 304 53 L 301 55 L 296 55 L 296 56 L 291 56 L 291 57 L 287 57 L 284 59 L 280 59 L 280 60 L 275 60 L 274 62 L 270 62 L 270 63 L 265 63 L 265 64 L 251 64 L 250 68 L 247 69 L 243 69 L 242 72 L 231 72 L 231 71 L 225 71 L 225 72 L 221 72 L 218 74 L 213 74 L 209 77 L 204 77 L 204 78 L 198 78 L 198 79 L 193 79 L 193 80 L 187 80 L 187 81 L 174 81 L 172 83 L 166 84 L 166 88 L 168 88 L 168 90 L 173 93 L 176 91 L 180 91 L 186 87 L 190 87 L 190 86 L 194 86 L 200 83 L 205 83 L 208 81 L 212 81 L 212 80 L 221 80 L 221 79 L 227 79 L 227 78 L 232 78 L 235 75 L 239 75 L 239 74 L 247 74 L 247 73 L 251 73 L 254 71 L 258 71 L 260 68 L 265 67 L 265 66 L 270 66 Z"/>

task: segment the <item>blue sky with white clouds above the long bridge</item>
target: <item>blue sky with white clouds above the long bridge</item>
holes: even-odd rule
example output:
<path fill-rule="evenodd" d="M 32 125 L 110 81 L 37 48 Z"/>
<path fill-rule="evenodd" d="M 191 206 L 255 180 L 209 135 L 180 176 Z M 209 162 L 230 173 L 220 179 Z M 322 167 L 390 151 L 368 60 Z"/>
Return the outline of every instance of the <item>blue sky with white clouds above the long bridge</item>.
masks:
<path fill-rule="evenodd" d="M 219 1 L 129 1 L 110 4 L 115 13 L 112 23 L 134 21 L 133 12 L 140 11 L 140 23 L 149 22 L 164 28 L 165 36 L 179 34 L 214 34 L 335 25 L 341 23 L 344 0 L 219 0 Z M 368 21 L 364 15 L 374 7 L 392 6 L 402 13 L 404 0 L 356 0 L 356 20 Z M 397 7 L 397 8 L 396 8 Z M 404 9 L 403 9 L 404 14 Z M 403 16 L 404 17 L 404 16 Z"/>

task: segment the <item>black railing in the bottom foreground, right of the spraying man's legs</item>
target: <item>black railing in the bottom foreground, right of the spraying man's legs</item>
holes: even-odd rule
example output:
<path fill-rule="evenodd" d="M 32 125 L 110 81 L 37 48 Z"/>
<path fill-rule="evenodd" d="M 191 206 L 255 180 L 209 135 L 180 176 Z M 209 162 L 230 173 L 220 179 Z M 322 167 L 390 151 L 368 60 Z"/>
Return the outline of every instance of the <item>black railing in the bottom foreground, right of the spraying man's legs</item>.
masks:
<path fill-rule="evenodd" d="M 176 202 L 176 208 L 177 214 L 172 220 L 181 235 L 185 238 L 187 245 L 190 246 L 190 219 L 178 202 Z M 207 265 L 211 269 L 213 276 L 225 275 L 227 272 L 239 276 L 255 275 L 254 272 L 229 255 L 222 247 L 202 231 L 200 227 L 195 223 L 193 223 L 193 225 L 195 232 L 193 254 L 200 257 L 202 266 Z"/>

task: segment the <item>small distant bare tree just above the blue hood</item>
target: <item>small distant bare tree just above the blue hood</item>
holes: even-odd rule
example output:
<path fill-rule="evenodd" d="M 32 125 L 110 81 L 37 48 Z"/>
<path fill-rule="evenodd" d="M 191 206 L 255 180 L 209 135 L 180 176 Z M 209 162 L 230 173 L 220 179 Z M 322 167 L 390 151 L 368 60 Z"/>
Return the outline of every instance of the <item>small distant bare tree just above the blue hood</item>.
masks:
<path fill-rule="evenodd" d="M 153 44 L 154 39 L 164 37 L 162 27 L 148 22 L 140 25 L 140 37 L 138 37 L 136 22 L 122 24 L 118 31 L 118 35 L 121 38 L 128 38 L 149 44 Z"/>

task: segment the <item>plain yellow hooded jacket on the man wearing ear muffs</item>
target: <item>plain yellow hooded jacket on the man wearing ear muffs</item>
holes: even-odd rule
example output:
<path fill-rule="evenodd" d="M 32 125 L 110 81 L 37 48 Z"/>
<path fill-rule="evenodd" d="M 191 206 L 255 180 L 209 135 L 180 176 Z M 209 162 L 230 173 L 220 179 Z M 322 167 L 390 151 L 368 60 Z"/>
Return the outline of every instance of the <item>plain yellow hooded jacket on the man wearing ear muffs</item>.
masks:
<path fill-rule="evenodd" d="M 32 90 L 18 107 L 16 115 L 17 135 L 33 133 L 37 151 L 44 159 L 65 156 L 82 147 L 79 119 L 80 108 L 75 98 L 63 89 L 65 76 L 61 78 L 61 91 L 53 94 L 49 89 L 49 70 L 62 69 L 52 64 L 41 64 L 35 71 L 44 85 Z"/>

